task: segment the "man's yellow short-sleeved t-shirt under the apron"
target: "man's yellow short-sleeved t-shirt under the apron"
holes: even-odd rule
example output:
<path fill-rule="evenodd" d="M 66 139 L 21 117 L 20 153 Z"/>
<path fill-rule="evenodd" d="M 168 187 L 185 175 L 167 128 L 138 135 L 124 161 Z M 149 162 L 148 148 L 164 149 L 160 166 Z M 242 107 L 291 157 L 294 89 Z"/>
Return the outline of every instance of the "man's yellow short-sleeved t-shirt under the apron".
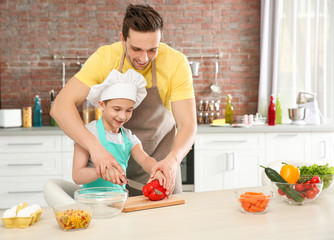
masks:
<path fill-rule="evenodd" d="M 100 47 L 85 62 L 75 75 L 88 87 L 102 83 L 111 70 L 119 69 L 123 53 L 121 42 Z M 152 87 L 151 65 L 145 70 L 134 69 L 128 60 L 124 59 L 122 72 L 132 68 L 142 74 L 147 82 L 146 88 Z M 188 60 L 181 52 L 160 43 L 156 57 L 157 87 L 161 100 L 170 110 L 171 102 L 194 98 L 192 75 Z"/>

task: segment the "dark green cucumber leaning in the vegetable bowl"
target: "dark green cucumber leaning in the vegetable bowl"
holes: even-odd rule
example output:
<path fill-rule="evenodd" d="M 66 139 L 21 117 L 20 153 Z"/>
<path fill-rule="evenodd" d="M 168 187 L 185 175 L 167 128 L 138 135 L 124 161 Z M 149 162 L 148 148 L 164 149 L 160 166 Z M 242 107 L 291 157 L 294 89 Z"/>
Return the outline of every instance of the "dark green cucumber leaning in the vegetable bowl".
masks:
<path fill-rule="evenodd" d="M 260 165 L 261 166 L 261 165 Z M 293 187 L 287 184 L 279 184 L 279 183 L 287 183 L 287 181 L 282 178 L 281 175 L 278 174 L 274 169 L 264 167 L 264 172 L 266 173 L 267 177 L 273 181 L 273 182 L 278 182 L 276 185 L 279 189 L 281 189 L 288 197 L 290 197 L 292 200 L 295 202 L 301 203 L 304 201 L 304 198 L 298 191 L 296 191 Z"/>

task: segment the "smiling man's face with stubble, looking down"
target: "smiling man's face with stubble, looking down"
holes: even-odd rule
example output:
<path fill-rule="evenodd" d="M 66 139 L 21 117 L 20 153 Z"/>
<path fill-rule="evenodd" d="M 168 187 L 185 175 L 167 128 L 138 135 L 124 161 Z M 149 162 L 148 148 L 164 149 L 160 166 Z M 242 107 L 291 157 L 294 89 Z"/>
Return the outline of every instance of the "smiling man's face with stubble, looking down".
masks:
<path fill-rule="evenodd" d="M 128 61 L 135 69 L 144 70 L 158 55 L 161 31 L 143 33 L 130 29 L 126 41 L 122 33 L 121 39 Z"/>

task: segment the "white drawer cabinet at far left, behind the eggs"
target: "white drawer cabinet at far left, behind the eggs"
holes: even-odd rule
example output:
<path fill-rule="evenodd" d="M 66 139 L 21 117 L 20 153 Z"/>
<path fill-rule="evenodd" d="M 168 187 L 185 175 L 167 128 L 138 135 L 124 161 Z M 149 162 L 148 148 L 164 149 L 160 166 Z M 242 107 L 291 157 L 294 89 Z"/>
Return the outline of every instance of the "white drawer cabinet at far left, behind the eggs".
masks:
<path fill-rule="evenodd" d="M 47 206 L 44 183 L 72 179 L 73 143 L 64 134 L 0 136 L 0 209 L 27 202 Z"/>

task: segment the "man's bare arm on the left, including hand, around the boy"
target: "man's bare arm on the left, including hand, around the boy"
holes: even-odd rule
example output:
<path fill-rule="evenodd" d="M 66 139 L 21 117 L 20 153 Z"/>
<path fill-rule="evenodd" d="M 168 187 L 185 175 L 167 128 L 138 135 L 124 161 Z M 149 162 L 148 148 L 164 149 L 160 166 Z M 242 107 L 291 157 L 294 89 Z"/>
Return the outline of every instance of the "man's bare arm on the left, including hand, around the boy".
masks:
<path fill-rule="evenodd" d="M 56 97 L 50 115 L 70 138 L 90 153 L 99 176 L 102 175 L 104 179 L 107 179 L 106 169 L 108 168 L 111 170 L 108 171 L 111 181 L 116 183 L 117 179 L 112 171 L 112 167 L 115 167 L 122 174 L 121 181 L 126 182 L 122 167 L 99 140 L 86 129 L 80 117 L 77 107 L 85 101 L 89 90 L 89 87 L 80 80 L 72 77 Z"/>

